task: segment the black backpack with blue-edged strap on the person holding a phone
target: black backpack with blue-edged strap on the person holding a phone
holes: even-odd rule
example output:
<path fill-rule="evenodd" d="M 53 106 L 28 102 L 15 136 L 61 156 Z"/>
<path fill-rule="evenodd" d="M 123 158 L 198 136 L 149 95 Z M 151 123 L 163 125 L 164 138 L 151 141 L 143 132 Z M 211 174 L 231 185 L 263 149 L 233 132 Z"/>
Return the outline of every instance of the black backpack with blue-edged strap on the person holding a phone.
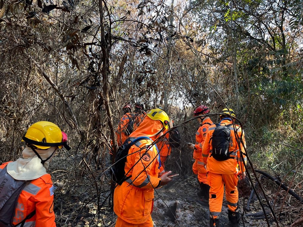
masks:
<path fill-rule="evenodd" d="M 126 177 L 125 176 L 125 163 L 126 163 L 126 158 L 128 155 L 128 150 L 131 148 L 132 145 L 134 145 L 135 143 L 137 143 L 140 140 L 151 140 L 151 138 L 149 137 L 138 137 L 135 140 L 130 140 L 127 139 L 125 140 L 125 142 L 123 143 L 122 146 L 119 146 L 118 151 L 117 151 L 117 155 L 115 157 L 115 163 L 114 166 L 112 166 L 112 168 L 110 169 L 111 172 L 111 177 L 112 180 L 119 184 L 122 185 L 122 183 L 129 179 L 131 176 Z M 0 226 L 1 227 L 1 226 Z"/>

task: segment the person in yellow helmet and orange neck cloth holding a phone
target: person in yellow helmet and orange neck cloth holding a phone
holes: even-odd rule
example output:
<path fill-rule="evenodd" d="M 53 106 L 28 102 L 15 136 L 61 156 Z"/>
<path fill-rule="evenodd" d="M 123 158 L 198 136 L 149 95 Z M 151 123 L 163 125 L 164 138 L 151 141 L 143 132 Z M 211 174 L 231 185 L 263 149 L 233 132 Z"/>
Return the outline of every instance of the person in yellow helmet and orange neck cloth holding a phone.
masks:
<path fill-rule="evenodd" d="M 168 130 L 169 118 L 160 109 L 153 109 L 129 137 L 149 137 L 136 142 L 128 151 L 125 163 L 126 176 L 130 177 L 117 185 L 114 192 L 114 211 L 118 216 L 116 227 L 152 227 L 151 212 L 154 203 L 154 188 L 171 181 L 169 171 L 158 177 L 160 158 L 158 148 L 151 144 Z"/>

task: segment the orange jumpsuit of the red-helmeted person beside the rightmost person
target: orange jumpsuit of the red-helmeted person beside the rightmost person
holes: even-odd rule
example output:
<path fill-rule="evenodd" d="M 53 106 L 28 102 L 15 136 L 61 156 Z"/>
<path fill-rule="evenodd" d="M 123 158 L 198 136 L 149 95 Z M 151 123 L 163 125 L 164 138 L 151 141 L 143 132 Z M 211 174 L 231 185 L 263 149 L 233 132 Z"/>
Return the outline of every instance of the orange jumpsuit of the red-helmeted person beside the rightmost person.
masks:
<path fill-rule="evenodd" d="M 206 169 L 204 168 L 204 162 L 202 159 L 202 145 L 204 143 L 208 128 L 212 124 L 213 122 L 209 117 L 205 117 L 201 122 L 200 127 L 196 132 L 196 144 L 195 144 L 195 150 L 193 155 L 193 158 L 195 159 L 195 163 L 192 166 L 192 171 L 196 175 L 198 175 L 199 182 L 205 184 L 208 184 L 208 180 L 207 180 L 207 172 Z"/>

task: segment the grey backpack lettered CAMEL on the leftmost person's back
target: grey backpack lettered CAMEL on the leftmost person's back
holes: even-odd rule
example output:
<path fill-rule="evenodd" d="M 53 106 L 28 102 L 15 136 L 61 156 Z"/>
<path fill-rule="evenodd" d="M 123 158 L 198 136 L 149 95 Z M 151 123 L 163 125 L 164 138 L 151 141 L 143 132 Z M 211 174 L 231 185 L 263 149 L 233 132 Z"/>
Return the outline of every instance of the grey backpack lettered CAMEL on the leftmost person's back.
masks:
<path fill-rule="evenodd" d="M 13 227 L 20 225 L 23 227 L 27 219 L 35 215 L 35 211 L 30 213 L 25 219 L 13 225 L 15 209 L 18 198 L 24 187 L 31 181 L 15 180 L 6 171 L 6 166 L 0 172 L 0 227 Z"/>

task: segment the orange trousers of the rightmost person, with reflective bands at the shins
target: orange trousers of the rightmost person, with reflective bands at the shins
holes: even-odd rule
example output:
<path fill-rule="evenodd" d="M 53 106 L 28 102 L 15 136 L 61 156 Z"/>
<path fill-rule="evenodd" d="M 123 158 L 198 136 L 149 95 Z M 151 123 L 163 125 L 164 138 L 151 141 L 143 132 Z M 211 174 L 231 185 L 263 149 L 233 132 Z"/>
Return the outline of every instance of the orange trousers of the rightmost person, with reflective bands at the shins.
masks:
<path fill-rule="evenodd" d="M 217 218 L 222 209 L 224 184 L 228 209 L 235 212 L 238 204 L 238 176 L 236 174 L 217 174 L 208 172 L 209 212 Z"/>

